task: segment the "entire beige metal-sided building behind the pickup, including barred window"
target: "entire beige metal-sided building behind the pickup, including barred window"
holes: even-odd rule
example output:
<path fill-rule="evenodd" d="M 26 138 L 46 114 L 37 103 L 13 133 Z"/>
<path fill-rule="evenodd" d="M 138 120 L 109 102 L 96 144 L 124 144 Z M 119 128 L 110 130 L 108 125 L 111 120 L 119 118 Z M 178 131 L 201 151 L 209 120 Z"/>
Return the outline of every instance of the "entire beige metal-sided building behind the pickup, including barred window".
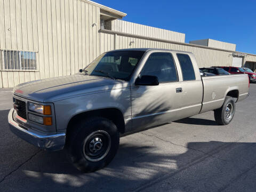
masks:
<path fill-rule="evenodd" d="M 133 47 L 193 52 L 199 67 L 242 57 L 256 68 L 256 55 L 234 44 L 187 44 L 185 34 L 119 20 L 125 15 L 87 0 L 0 0 L 0 87 L 72 75 L 103 52 Z"/>

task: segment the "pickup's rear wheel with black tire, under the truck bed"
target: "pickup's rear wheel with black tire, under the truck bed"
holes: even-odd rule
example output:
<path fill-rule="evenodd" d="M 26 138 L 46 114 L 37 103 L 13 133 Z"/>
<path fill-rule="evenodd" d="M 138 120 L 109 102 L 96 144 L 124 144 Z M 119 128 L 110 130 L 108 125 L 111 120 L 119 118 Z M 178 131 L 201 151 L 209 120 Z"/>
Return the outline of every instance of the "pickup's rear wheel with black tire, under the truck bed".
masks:
<path fill-rule="evenodd" d="M 235 111 L 236 106 L 234 98 L 227 96 L 222 107 L 214 110 L 215 121 L 219 125 L 227 125 L 232 121 Z"/>

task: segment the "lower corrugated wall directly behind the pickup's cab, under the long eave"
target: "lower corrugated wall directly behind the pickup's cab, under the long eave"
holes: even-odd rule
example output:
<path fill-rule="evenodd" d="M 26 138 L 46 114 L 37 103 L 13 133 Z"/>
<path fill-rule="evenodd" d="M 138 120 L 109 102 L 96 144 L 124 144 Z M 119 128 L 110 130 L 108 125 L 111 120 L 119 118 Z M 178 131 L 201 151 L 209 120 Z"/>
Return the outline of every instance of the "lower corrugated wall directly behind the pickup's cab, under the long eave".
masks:
<path fill-rule="evenodd" d="M 107 33 L 100 33 L 100 37 L 102 47 L 101 53 L 105 51 L 114 50 L 115 47 L 116 49 L 151 47 L 159 49 L 193 52 L 195 54 L 199 67 L 223 66 L 231 65 L 232 63 L 231 53 L 226 51 L 212 50 L 189 45 L 165 43 L 159 41 L 152 41 L 148 39 L 127 37 Z"/>

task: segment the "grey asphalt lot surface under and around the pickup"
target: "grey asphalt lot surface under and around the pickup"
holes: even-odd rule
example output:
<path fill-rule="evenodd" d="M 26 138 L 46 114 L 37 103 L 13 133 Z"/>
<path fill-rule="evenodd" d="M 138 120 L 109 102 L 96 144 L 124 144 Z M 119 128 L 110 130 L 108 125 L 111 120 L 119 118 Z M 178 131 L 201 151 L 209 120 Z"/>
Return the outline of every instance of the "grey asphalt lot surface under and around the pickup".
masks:
<path fill-rule="evenodd" d="M 105 169 L 83 174 L 64 151 L 39 150 L 9 131 L 0 92 L 0 191 L 255 191 L 256 84 L 218 126 L 213 111 L 121 138 Z"/>

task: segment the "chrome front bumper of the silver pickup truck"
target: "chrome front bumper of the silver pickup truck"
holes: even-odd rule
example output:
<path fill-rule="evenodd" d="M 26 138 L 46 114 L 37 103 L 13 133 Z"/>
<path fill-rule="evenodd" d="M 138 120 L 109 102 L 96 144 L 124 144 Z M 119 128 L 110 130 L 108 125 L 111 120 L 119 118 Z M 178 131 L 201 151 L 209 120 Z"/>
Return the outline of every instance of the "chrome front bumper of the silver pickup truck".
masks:
<path fill-rule="evenodd" d="M 15 135 L 36 147 L 46 150 L 61 150 L 65 145 L 65 133 L 46 134 L 35 131 L 31 127 L 21 126 L 13 119 L 13 109 L 9 111 L 8 122 L 10 130 Z"/>

